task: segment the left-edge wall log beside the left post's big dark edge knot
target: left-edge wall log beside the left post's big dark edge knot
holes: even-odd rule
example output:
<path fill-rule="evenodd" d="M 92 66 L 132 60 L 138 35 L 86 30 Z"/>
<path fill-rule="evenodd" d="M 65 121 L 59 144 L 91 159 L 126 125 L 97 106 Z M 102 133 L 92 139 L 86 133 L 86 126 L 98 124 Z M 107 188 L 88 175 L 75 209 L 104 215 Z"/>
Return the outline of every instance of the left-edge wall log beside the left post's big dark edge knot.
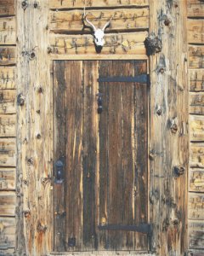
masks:
<path fill-rule="evenodd" d="M 0 113 L 16 113 L 16 91 L 0 90 Z"/>

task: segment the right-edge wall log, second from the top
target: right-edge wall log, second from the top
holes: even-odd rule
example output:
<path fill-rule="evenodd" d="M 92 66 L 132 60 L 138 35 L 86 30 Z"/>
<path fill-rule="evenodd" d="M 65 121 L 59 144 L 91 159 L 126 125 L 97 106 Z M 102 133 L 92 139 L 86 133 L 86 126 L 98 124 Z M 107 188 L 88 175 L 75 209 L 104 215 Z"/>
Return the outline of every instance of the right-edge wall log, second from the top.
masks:
<path fill-rule="evenodd" d="M 204 43 L 204 20 L 187 20 L 187 31 L 190 44 Z"/>

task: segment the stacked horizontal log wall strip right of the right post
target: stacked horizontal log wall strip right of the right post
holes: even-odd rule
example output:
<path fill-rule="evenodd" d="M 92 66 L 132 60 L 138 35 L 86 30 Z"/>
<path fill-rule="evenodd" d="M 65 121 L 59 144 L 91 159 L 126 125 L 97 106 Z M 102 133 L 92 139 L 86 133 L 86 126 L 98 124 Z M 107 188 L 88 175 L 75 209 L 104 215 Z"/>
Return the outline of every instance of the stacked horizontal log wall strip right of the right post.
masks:
<path fill-rule="evenodd" d="M 189 248 L 204 251 L 204 3 L 188 0 L 188 76 L 190 91 Z"/>

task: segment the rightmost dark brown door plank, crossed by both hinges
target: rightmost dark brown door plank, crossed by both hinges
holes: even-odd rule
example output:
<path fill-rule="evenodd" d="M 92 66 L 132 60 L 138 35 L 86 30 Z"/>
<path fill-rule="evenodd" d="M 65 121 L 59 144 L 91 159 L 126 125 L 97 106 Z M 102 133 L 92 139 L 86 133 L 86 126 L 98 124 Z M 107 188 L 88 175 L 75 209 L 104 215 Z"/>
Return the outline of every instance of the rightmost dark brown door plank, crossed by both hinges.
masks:
<path fill-rule="evenodd" d="M 135 65 L 135 75 L 146 73 L 146 62 L 140 61 Z M 148 222 L 148 90 L 144 84 L 135 85 L 135 162 L 134 162 L 134 197 L 135 223 Z M 135 234 L 135 248 L 145 250 L 148 246 L 147 236 Z"/>

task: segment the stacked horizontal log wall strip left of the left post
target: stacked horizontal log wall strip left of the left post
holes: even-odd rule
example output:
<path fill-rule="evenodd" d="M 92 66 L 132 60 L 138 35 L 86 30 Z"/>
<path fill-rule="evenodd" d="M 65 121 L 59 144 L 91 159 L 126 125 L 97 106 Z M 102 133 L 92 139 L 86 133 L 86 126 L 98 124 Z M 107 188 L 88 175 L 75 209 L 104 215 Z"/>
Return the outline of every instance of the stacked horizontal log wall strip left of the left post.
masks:
<path fill-rule="evenodd" d="M 0 1 L 0 254 L 15 252 L 16 20 L 14 0 Z"/>

